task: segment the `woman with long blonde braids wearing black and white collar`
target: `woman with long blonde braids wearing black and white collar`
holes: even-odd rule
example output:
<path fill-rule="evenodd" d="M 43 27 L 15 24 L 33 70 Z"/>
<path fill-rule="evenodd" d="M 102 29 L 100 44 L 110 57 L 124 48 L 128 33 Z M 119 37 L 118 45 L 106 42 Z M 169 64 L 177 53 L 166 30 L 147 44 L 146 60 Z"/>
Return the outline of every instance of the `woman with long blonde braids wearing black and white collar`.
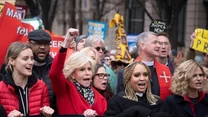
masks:
<path fill-rule="evenodd" d="M 169 106 L 151 93 L 151 72 L 142 62 L 129 64 L 124 70 L 125 91 L 113 96 L 105 116 L 169 117 Z"/>

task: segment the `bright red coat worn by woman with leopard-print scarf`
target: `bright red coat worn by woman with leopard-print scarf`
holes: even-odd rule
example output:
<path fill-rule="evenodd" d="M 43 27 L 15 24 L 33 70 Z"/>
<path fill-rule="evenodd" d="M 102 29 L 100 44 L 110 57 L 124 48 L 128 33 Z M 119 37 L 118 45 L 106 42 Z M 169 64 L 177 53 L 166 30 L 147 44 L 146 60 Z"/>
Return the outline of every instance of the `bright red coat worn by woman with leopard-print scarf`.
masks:
<path fill-rule="evenodd" d="M 103 115 L 107 109 L 107 102 L 99 92 L 92 88 L 95 94 L 95 102 L 90 106 L 77 91 L 74 84 L 65 78 L 62 73 L 65 57 L 66 53 L 57 53 L 49 73 L 52 87 L 56 95 L 58 113 L 83 114 L 85 110 L 93 109 L 98 115 Z"/>

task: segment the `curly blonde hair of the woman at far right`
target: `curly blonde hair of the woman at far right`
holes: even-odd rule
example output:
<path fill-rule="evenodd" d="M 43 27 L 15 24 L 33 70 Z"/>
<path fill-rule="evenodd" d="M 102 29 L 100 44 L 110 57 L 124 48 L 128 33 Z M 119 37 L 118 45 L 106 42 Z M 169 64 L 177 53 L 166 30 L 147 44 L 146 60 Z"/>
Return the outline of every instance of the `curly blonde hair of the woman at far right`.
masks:
<path fill-rule="evenodd" d="M 188 81 L 193 77 L 194 71 L 197 68 L 200 68 L 203 75 L 205 73 L 203 68 L 194 60 L 187 60 L 182 62 L 176 69 L 173 74 L 170 90 L 173 94 L 179 96 L 185 96 L 189 92 Z M 208 91 L 207 80 L 202 82 L 202 92 Z"/>

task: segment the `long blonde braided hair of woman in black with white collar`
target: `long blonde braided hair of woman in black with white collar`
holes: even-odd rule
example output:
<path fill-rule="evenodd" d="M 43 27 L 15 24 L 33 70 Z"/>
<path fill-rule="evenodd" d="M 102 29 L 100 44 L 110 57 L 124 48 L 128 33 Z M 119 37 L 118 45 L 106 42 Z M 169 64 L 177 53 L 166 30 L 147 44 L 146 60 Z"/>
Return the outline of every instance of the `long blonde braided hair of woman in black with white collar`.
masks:
<path fill-rule="evenodd" d="M 134 72 L 134 69 L 136 67 L 136 65 L 142 65 L 145 67 L 145 69 L 147 70 L 148 73 L 148 78 L 151 81 L 151 72 L 149 70 L 149 68 L 143 63 L 143 62 L 133 62 L 131 64 L 129 64 L 125 70 L 124 70 L 124 87 L 125 87 L 125 94 L 126 94 L 126 98 L 130 99 L 130 100 L 134 100 L 134 101 L 138 101 L 138 98 L 136 96 L 135 91 L 132 89 L 131 84 L 130 84 L 130 80 L 132 77 L 132 74 Z M 147 100 L 149 101 L 149 103 L 151 104 L 156 104 L 157 100 L 158 100 L 158 96 L 153 95 L 151 92 L 151 82 L 148 83 L 147 89 L 146 89 L 146 97 Z"/>

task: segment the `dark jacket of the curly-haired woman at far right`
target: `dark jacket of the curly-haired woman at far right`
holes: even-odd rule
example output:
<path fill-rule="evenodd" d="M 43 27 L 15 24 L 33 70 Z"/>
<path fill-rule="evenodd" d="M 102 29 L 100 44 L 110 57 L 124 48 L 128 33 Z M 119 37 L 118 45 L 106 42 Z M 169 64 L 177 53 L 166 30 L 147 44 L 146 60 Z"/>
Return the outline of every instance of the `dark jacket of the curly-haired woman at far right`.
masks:
<path fill-rule="evenodd" d="M 185 101 L 184 97 L 171 95 L 166 98 L 166 102 L 170 106 L 173 117 L 208 117 L 208 95 L 205 94 L 199 98 L 196 104 Z M 193 108 L 191 108 L 193 107 Z M 194 109 L 194 112 L 192 111 Z M 194 113 L 196 116 L 194 116 Z"/>

